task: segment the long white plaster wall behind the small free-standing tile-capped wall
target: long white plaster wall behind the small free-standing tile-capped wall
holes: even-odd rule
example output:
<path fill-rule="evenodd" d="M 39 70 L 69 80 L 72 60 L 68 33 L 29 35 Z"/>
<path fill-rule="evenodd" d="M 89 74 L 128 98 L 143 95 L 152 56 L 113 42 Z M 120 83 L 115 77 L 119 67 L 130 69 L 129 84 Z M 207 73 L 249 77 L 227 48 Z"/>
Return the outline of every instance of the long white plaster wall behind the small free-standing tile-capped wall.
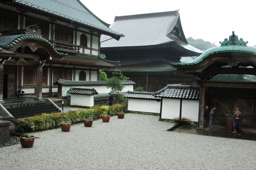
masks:
<path fill-rule="evenodd" d="M 106 88 L 106 85 L 78 85 L 78 86 L 62 86 L 62 96 L 66 96 L 69 99 L 71 94 L 67 94 L 66 92 L 70 88 L 94 88 L 99 94 L 94 95 L 94 99 L 104 99 L 109 97 L 110 88 Z M 123 95 L 124 92 L 133 91 L 133 85 L 124 85 L 124 89 L 121 91 Z"/>

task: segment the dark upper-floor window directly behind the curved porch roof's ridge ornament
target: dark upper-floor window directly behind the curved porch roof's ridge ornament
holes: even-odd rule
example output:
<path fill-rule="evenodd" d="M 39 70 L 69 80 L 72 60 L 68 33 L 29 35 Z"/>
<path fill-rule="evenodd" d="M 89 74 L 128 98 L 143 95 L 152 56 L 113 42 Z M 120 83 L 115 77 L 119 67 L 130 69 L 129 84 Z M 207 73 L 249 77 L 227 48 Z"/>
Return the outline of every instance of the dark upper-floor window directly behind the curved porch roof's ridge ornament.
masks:
<path fill-rule="evenodd" d="M 43 38 L 49 39 L 49 27 L 50 27 L 49 23 L 26 18 L 25 27 L 32 26 L 35 24 L 37 24 L 37 26 L 39 26 L 39 28 L 41 29 Z"/>

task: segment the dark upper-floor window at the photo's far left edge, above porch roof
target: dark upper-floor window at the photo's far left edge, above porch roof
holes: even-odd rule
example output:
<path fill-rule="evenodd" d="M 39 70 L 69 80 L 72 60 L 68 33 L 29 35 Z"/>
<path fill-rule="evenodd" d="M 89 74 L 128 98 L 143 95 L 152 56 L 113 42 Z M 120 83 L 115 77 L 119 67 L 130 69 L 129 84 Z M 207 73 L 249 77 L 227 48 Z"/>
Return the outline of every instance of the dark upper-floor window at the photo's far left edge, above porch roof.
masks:
<path fill-rule="evenodd" d="M 18 16 L 0 12 L 0 30 L 17 29 Z"/>

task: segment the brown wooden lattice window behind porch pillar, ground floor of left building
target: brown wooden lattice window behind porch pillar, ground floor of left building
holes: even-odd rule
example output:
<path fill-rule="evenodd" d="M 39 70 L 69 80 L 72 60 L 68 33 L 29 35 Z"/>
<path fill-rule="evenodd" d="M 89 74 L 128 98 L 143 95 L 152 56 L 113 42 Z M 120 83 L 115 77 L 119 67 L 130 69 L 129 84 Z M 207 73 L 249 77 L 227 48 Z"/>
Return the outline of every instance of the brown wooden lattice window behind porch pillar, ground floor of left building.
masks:
<path fill-rule="evenodd" d="M 43 68 L 42 85 L 47 85 L 48 68 Z M 36 85 L 37 84 L 37 68 L 24 67 L 23 84 Z"/>

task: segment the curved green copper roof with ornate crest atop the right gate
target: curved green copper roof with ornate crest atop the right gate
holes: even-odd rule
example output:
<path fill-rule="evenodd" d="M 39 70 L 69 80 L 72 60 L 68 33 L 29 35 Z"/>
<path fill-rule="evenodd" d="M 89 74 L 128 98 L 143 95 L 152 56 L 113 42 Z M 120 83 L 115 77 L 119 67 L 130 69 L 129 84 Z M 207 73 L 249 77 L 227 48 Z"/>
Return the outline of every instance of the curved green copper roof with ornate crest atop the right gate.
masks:
<path fill-rule="evenodd" d="M 244 40 L 238 39 L 238 37 L 234 34 L 230 35 L 229 40 L 227 38 L 220 42 L 221 46 L 210 48 L 204 51 L 198 58 L 183 63 L 171 63 L 172 65 L 177 66 L 186 66 L 186 65 L 196 65 L 201 62 L 203 59 L 207 58 L 212 54 L 219 54 L 219 53 L 247 53 L 247 54 L 254 54 L 256 55 L 256 48 L 252 46 L 247 46 L 248 42 L 244 42 Z"/>

